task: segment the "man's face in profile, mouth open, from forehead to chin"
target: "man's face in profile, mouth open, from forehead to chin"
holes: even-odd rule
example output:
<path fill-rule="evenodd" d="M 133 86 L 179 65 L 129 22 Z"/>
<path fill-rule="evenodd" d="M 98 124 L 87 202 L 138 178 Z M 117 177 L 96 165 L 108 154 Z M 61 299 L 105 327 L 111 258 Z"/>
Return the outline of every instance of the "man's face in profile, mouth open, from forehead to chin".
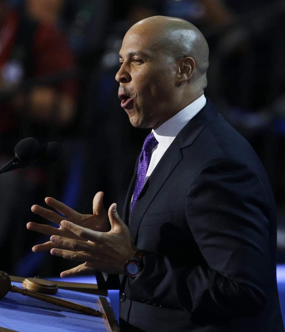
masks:
<path fill-rule="evenodd" d="M 120 50 L 119 98 L 131 124 L 156 129 L 175 114 L 177 61 L 150 29 L 131 28 Z"/>

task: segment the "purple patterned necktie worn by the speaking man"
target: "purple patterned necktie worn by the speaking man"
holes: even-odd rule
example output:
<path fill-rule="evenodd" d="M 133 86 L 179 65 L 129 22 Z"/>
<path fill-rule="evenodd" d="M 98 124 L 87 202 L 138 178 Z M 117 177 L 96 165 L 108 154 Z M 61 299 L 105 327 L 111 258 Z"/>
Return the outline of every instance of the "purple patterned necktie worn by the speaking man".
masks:
<path fill-rule="evenodd" d="M 143 188 L 146 172 L 150 163 L 151 150 L 156 146 L 157 143 L 158 141 L 155 139 L 152 132 L 146 137 L 143 143 L 142 152 L 139 157 L 137 180 L 134 188 L 131 212 Z"/>

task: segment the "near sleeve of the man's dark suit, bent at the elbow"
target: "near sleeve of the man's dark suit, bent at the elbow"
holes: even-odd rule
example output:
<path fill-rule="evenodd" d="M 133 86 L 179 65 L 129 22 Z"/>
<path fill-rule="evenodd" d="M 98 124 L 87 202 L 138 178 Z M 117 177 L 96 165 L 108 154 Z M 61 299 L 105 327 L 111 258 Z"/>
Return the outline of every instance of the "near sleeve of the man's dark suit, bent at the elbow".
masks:
<path fill-rule="evenodd" d="M 185 213 L 204 261 L 177 268 L 146 252 L 141 274 L 129 280 L 130 299 L 194 314 L 259 315 L 271 264 L 271 203 L 260 179 L 232 159 L 211 159 L 189 183 Z"/>

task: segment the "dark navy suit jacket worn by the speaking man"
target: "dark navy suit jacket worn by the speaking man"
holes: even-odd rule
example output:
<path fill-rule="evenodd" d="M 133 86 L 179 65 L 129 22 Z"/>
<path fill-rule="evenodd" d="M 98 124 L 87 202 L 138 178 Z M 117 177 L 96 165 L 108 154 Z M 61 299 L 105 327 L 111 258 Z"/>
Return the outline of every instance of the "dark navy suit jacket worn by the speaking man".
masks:
<path fill-rule="evenodd" d="M 123 332 L 284 331 L 272 190 L 250 144 L 209 100 L 149 177 L 129 230 L 145 256 L 140 275 L 123 278 Z"/>

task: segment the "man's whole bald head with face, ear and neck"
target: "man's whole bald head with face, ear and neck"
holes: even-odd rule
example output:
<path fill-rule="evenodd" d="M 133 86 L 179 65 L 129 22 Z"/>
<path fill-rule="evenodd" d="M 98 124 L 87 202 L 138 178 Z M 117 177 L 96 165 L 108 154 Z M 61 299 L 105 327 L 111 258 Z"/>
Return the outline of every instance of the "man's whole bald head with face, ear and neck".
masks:
<path fill-rule="evenodd" d="M 201 32 L 185 20 L 153 16 L 133 25 L 116 74 L 131 124 L 156 129 L 202 96 L 208 52 Z"/>

